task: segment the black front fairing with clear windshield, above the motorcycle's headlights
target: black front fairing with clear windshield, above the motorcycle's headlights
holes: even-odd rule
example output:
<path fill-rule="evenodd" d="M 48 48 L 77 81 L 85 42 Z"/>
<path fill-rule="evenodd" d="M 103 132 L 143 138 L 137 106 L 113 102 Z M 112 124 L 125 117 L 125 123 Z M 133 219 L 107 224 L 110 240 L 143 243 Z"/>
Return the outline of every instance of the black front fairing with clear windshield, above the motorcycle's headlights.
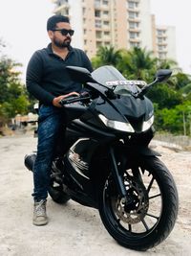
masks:
<path fill-rule="evenodd" d="M 92 76 L 99 84 L 114 90 L 116 99 L 99 97 L 96 100 L 96 112 L 103 115 L 108 120 L 130 123 L 136 132 L 142 131 L 142 124 L 153 116 L 153 105 L 146 97 L 137 98 L 135 94 L 140 88 L 138 82 L 146 84 L 144 81 L 127 81 L 116 68 L 103 66 L 96 69 Z M 139 84 L 140 84 L 139 83 Z M 142 84 L 142 85 L 143 85 Z"/>

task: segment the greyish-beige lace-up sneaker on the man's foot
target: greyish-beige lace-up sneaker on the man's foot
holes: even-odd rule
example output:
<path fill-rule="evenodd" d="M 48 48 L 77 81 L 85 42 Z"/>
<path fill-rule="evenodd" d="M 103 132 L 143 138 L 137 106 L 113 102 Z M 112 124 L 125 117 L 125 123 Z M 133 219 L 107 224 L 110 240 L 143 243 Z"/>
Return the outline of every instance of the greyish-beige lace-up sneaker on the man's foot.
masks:
<path fill-rule="evenodd" d="M 35 201 L 33 206 L 33 224 L 46 225 L 48 218 L 46 214 L 46 200 Z"/>

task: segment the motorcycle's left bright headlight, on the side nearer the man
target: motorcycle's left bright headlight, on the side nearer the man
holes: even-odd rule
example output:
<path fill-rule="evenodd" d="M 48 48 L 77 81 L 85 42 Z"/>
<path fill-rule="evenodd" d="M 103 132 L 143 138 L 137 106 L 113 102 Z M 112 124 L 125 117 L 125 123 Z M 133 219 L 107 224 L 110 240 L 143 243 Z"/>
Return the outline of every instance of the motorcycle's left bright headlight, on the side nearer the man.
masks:
<path fill-rule="evenodd" d="M 119 122 L 115 120 L 107 119 L 104 115 L 98 115 L 103 124 L 108 128 L 115 128 L 127 132 L 135 132 L 135 129 L 129 123 Z"/>

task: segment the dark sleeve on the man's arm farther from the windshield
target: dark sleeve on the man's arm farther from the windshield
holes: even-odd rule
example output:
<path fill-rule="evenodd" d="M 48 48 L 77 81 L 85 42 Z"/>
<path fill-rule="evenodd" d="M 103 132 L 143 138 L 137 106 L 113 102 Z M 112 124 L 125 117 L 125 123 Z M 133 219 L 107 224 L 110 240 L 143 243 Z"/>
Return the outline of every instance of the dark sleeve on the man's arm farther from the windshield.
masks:
<path fill-rule="evenodd" d="M 53 105 L 54 96 L 41 86 L 42 77 L 43 60 L 40 57 L 39 51 L 36 51 L 32 55 L 27 67 L 27 89 L 40 103 L 44 105 Z"/>

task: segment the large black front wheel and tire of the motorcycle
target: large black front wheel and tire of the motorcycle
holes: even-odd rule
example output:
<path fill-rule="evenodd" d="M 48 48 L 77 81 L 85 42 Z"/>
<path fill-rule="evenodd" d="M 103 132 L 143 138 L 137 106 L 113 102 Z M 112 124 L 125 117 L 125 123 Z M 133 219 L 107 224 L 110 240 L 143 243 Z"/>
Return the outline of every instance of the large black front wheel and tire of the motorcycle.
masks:
<path fill-rule="evenodd" d="M 179 199 L 172 175 L 157 157 L 145 157 L 137 163 L 137 172 L 131 168 L 123 172 L 131 202 L 126 204 L 118 196 L 114 179 L 109 175 L 99 196 L 99 214 L 118 244 L 147 250 L 161 243 L 172 231 Z M 135 177 L 136 173 L 139 178 Z"/>

